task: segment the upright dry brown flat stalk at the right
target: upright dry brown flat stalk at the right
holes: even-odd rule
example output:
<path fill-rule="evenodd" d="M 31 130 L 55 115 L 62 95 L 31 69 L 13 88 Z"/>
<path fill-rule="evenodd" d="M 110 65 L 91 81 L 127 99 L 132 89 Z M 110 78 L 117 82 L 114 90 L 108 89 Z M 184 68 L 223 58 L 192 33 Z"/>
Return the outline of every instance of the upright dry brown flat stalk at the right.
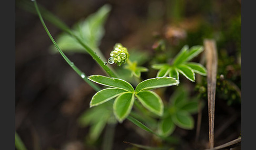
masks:
<path fill-rule="evenodd" d="M 218 55 L 214 40 L 205 39 L 204 48 L 206 53 L 207 68 L 207 90 L 208 90 L 208 115 L 209 115 L 209 144 L 214 147 L 214 107 L 216 92 L 216 73 L 218 65 Z"/>

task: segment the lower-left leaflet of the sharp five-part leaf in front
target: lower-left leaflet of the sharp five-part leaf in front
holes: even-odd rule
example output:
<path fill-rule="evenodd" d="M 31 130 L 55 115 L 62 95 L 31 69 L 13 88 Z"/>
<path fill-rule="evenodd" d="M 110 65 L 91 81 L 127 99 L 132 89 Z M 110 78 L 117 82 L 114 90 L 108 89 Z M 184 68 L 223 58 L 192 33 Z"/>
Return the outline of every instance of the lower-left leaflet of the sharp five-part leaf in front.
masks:
<path fill-rule="evenodd" d="M 101 90 L 93 95 L 92 100 L 90 102 L 90 108 L 92 106 L 96 106 L 96 105 L 105 103 L 105 102 L 117 97 L 118 95 L 120 95 L 123 92 L 127 92 L 127 91 L 123 90 L 123 89 L 115 89 L 115 88 Z"/>

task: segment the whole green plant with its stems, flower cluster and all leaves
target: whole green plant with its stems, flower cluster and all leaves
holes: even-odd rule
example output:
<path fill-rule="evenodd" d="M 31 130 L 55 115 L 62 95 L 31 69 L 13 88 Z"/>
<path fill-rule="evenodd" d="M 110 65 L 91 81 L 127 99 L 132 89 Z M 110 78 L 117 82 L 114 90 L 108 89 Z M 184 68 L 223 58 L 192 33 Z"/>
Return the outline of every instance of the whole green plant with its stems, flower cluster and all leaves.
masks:
<path fill-rule="evenodd" d="M 114 124 L 117 121 L 122 123 L 125 119 L 129 119 L 143 130 L 149 131 L 161 137 L 163 140 L 165 139 L 163 137 L 171 135 L 175 126 L 187 130 L 193 128 L 194 122 L 191 119 L 190 113 L 195 112 L 194 110 L 197 108 L 196 106 L 198 103 L 181 98 L 175 99 L 175 102 L 166 105 L 166 99 L 162 99 L 155 89 L 163 88 L 164 90 L 164 87 L 165 89 L 168 89 L 166 87 L 171 87 L 173 85 L 178 86 L 180 84 L 180 73 L 192 82 L 195 81 L 195 73 L 206 76 L 207 71 L 200 63 L 189 62 L 203 51 L 202 46 L 193 46 L 189 49 L 189 47 L 185 45 L 178 55 L 174 57 L 171 63 L 153 64 L 152 68 L 159 70 L 154 76 L 143 76 L 144 78 L 141 78 L 141 72 L 149 71 L 150 68 L 139 66 L 137 63 L 140 61 L 140 58 L 131 61 L 130 59 L 132 56 L 129 55 L 129 51 L 122 44 L 117 43 L 114 45 L 113 50 L 110 52 L 110 58 L 107 60 L 103 57 L 104 55 L 99 50 L 99 47 L 97 47 L 104 34 L 104 21 L 102 20 L 105 20 L 105 17 L 110 12 L 109 5 L 103 6 L 88 19 L 79 22 L 73 30 L 69 29 L 60 20 L 55 19 L 57 20 L 57 24 L 55 25 L 66 32 L 58 38 L 58 41 L 60 41 L 59 43 L 61 44 L 61 47 L 59 47 L 44 23 L 36 1 L 34 1 L 34 4 L 46 33 L 51 38 L 58 52 L 61 53 L 68 65 L 70 65 L 74 71 L 96 91 L 90 101 L 90 108 L 93 107 L 94 112 L 97 112 L 97 115 L 88 113 L 83 115 L 83 118 L 80 119 L 85 122 L 86 125 L 90 124 L 92 126 L 91 130 L 94 140 L 99 137 L 106 124 Z M 87 31 L 86 29 L 89 30 Z M 93 33 L 92 30 L 97 31 L 97 33 Z M 66 44 L 68 41 L 70 41 L 70 44 Z M 106 72 L 106 76 L 92 75 L 87 77 L 86 73 L 78 69 L 75 64 L 65 56 L 61 49 L 80 49 L 79 51 L 82 49 L 83 52 L 86 52 L 99 63 L 99 66 Z M 106 61 L 109 62 L 109 64 L 107 64 Z M 124 70 L 128 70 L 129 77 L 135 77 L 136 82 L 129 83 L 127 82 L 128 80 L 126 81 L 120 78 L 120 74 L 117 74 L 116 70 L 109 67 L 110 65 L 116 65 Z M 146 77 L 151 78 L 145 79 Z M 107 88 L 102 89 L 95 83 L 101 84 Z M 179 103 L 179 100 L 181 100 L 182 103 Z M 109 108 L 103 109 L 103 107 L 99 106 L 105 104 L 111 104 L 111 110 Z M 96 109 L 97 106 L 99 106 L 100 110 Z M 152 117 L 150 119 L 151 121 L 160 122 L 158 123 L 160 132 L 156 133 L 155 131 L 150 130 L 149 127 L 137 120 L 141 115 L 140 113 L 137 113 L 137 110 L 149 114 L 147 118 Z M 100 117 L 100 113 L 102 112 L 105 113 L 102 115 L 104 116 L 104 119 Z M 115 121 L 113 121 L 113 119 Z"/>

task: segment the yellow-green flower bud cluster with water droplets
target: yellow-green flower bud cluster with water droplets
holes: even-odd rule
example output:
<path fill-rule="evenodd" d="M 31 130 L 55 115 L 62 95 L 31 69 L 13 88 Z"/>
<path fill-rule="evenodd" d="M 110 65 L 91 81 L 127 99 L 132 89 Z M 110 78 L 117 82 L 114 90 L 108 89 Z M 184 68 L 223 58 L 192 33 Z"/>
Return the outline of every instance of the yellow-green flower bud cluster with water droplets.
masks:
<path fill-rule="evenodd" d="M 116 63 L 117 66 L 121 66 L 129 58 L 127 48 L 123 47 L 122 44 L 117 43 L 114 46 L 114 50 L 110 52 L 110 58 L 108 62 L 110 64 Z"/>

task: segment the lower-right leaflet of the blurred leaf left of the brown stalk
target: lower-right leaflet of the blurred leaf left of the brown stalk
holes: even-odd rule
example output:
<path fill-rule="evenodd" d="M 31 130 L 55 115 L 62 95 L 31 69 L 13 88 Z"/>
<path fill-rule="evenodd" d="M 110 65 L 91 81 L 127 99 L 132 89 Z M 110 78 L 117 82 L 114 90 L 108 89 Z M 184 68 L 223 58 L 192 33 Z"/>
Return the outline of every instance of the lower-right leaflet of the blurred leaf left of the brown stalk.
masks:
<path fill-rule="evenodd" d="M 173 122 L 181 128 L 191 130 L 194 127 L 194 119 L 188 112 L 176 112 L 172 115 L 172 119 Z"/>

